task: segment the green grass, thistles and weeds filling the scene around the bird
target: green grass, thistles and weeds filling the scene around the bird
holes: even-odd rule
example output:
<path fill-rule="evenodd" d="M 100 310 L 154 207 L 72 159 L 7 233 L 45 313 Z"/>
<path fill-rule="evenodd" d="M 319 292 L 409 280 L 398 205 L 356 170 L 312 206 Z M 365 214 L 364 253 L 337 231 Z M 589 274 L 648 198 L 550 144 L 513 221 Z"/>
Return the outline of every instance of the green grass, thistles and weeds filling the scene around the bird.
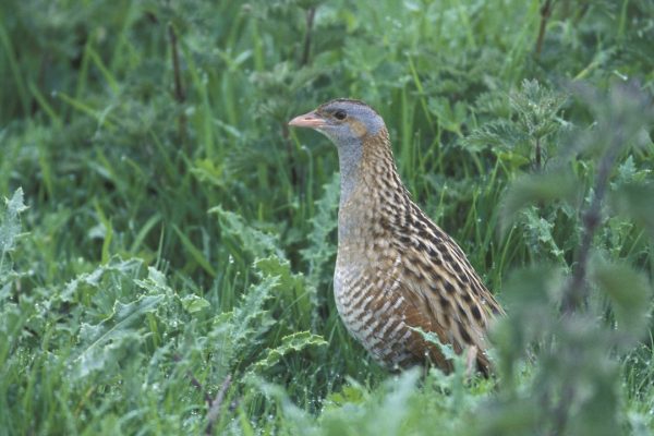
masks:
<path fill-rule="evenodd" d="M 0 17 L 0 434 L 654 432 L 651 0 Z M 336 150 L 286 123 L 346 96 L 508 308 L 495 378 L 340 323 Z"/>

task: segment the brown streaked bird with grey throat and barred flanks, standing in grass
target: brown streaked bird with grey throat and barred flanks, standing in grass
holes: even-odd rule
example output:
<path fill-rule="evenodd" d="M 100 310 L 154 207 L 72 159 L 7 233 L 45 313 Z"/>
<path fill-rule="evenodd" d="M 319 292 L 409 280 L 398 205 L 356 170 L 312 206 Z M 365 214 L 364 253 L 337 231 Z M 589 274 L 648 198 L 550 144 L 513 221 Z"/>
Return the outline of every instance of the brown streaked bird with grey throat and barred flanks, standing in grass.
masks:
<path fill-rule="evenodd" d="M 337 98 L 289 125 L 326 135 L 338 150 L 340 199 L 334 294 L 349 332 L 383 366 L 453 370 L 434 334 L 469 370 L 492 372 L 487 331 L 505 311 L 459 245 L 413 202 L 383 118 Z"/>

